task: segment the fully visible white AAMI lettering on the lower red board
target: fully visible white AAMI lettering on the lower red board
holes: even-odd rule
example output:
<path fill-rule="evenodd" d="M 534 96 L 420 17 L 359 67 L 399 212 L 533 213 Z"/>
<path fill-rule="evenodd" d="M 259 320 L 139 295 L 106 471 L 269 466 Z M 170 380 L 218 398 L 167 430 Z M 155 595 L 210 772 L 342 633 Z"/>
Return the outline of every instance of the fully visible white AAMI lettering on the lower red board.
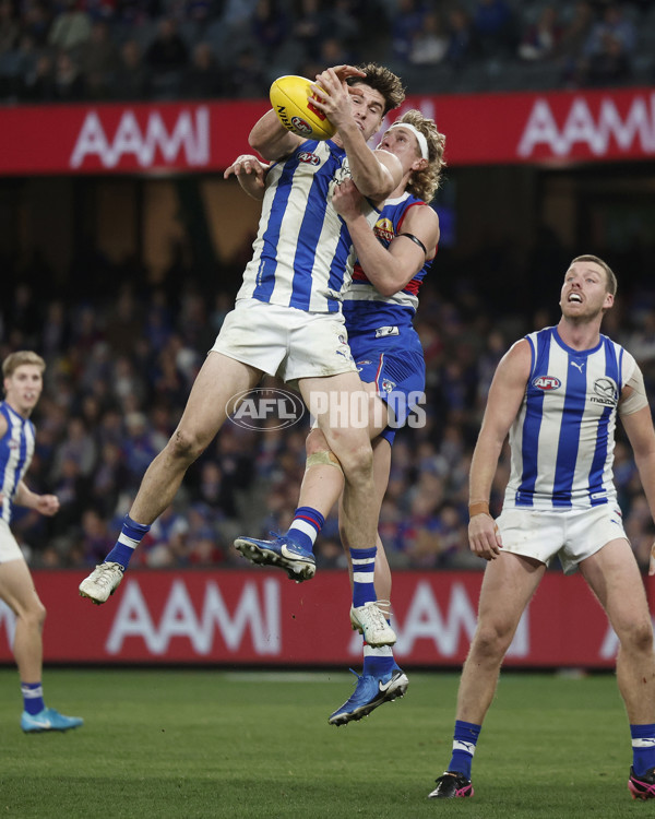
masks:
<path fill-rule="evenodd" d="M 107 639 L 107 652 L 118 654 L 127 638 L 138 637 L 152 654 L 165 654 L 170 640 L 182 637 L 198 654 L 206 655 L 212 651 L 216 628 L 230 651 L 239 649 L 249 631 L 258 654 L 279 654 L 279 586 L 274 580 L 265 580 L 262 586 L 260 601 L 257 584 L 245 583 L 230 615 L 218 585 L 207 581 L 198 617 L 184 582 L 176 580 L 156 625 L 138 581 L 129 580 Z"/>

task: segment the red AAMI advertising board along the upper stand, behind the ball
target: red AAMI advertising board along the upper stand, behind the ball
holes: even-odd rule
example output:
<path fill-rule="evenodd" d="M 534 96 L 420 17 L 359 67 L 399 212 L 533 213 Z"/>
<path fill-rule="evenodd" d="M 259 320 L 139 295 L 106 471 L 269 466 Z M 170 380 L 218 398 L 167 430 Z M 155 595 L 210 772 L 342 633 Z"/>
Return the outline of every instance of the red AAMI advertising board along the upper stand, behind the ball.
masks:
<path fill-rule="evenodd" d="M 248 151 L 266 100 L 0 109 L 0 175 L 217 173 Z M 655 156 L 655 91 L 409 96 L 446 135 L 449 165 Z M 386 122 L 386 124 L 391 119 Z"/>

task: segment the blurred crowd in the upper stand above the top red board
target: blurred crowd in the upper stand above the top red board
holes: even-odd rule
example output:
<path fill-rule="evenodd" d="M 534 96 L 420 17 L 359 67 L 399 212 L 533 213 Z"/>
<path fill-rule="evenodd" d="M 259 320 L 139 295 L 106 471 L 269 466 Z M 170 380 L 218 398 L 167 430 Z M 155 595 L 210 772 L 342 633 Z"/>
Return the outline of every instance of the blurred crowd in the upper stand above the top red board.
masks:
<path fill-rule="evenodd" d="M 373 59 L 414 93 L 648 83 L 653 0 L 0 0 L 0 100 L 262 97 Z"/>

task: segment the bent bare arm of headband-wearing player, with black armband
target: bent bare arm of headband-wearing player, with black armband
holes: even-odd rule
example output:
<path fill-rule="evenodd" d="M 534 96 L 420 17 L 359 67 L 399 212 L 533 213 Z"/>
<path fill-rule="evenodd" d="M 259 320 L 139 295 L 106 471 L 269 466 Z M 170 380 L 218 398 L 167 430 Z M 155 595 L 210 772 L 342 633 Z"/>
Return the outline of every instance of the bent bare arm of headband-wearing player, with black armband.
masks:
<path fill-rule="evenodd" d="M 348 227 L 366 275 L 383 296 L 393 296 L 402 290 L 426 260 L 434 257 L 439 217 L 431 207 L 409 209 L 403 223 L 403 232 L 407 229 L 428 248 L 426 256 L 419 245 L 406 237 L 396 236 L 388 249 L 378 241 L 362 215 L 362 197 L 352 180 L 345 180 L 334 189 L 332 204 Z"/>

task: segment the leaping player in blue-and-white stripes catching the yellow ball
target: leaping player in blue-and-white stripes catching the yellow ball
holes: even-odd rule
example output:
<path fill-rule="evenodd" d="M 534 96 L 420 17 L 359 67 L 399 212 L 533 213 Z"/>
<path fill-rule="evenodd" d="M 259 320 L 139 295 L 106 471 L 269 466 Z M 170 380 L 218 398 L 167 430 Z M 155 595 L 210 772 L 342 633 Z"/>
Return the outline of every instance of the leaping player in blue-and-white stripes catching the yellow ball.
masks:
<path fill-rule="evenodd" d="M 302 140 L 283 128 L 274 110 L 252 129 L 251 146 L 276 164 L 266 176 L 253 258 L 235 309 L 198 375 L 178 428 L 146 471 L 116 547 L 81 583 L 80 593 L 95 603 L 108 600 L 189 465 L 237 408 L 230 404 L 234 396 L 246 394 L 269 373 L 298 384 L 340 460 L 344 526 L 352 549 L 367 555 L 371 567 L 355 584 L 352 617 L 372 644 L 393 644 L 395 633 L 376 606 L 372 567 L 379 510 L 370 439 L 365 428 L 335 423 L 335 405 L 361 391 L 361 382 L 341 311 L 342 288 L 354 261 L 352 241 L 331 199 L 334 187 L 348 178 L 371 202 L 384 201 L 397 187 L 398 159 L 373 153 L 367 140 L 403 102 L 404 92 L 395 74 L 376 64 L 327 69 L 312 88 L 314 105 L 337 133 L 324 142 Z M 374 221 L 374 207 L 367 211 Z"/>

